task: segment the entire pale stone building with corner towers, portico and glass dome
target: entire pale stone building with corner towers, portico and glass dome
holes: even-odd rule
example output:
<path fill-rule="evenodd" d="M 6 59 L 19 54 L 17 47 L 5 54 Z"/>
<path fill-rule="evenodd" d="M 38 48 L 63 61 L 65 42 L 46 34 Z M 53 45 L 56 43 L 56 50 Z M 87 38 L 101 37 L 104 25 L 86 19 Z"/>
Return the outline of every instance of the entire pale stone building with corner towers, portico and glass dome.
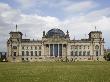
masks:
<path fill-rule="evenodd" d="M 60 29 L 43 31 L 42 40 L 23 39 L 21 32 L 10 32 L 8 61 L 104 61 L 101 31 L 91 31 L 88 39 L 70 40 Z"/>

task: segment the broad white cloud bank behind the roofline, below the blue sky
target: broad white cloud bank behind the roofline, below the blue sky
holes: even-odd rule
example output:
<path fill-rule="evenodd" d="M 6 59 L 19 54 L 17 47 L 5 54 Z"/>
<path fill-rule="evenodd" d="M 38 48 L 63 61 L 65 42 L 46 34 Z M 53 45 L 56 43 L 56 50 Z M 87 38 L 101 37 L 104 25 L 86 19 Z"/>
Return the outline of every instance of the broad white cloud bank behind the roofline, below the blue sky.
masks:
<path fill-rule="evenodd" d="M 73 16 L 61 21 L 59 18 L 52 16 L 22 14 L 9 5 L 0 3 L 0 37 L 2 38 L 0 46 L 5 45 L 1 50 L 6 48 L 8 33 L 15 29 L 14 25 L 16 23 L 18 24 L 18 30 L 23 34 L 26 33 L 27 38 L 31 39 L 41 38 L 43 30 L 47 32 L 55 27 L 62 29 L 64 32 L 69 30 L 71 39 L 74 36 L 76 36 L 76 39 L 81 39 L 85 37 L 85 33 L 88 34 L 91 30 L 94 30 L 95 26 L 98 26 L 97 28 L 102 30 L 105 40 L 108 42 L 110 39 L 108 39 L 107 35 L 110 33 L 106 34 L 106 32 L 110 31 L 110 17 L 108 17 L 110 13 L 106 12 L 109 12 L 109 8 L 92 11 L 77 17 Z M 96 17 L 99 18 L 96 20 Z"/>

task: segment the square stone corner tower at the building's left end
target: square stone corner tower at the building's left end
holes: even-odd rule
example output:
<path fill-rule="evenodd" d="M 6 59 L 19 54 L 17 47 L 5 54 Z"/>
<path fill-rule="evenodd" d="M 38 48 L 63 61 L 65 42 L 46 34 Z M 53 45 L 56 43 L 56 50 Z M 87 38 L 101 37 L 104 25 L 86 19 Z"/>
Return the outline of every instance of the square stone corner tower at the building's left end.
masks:
<path fill-rule="evenodd" d="M 19 47 L 22 40 L 21 32 L 10 32 L 10 38 L 7 41 L 8 60 L 15 60 L 19 57 Z"/>

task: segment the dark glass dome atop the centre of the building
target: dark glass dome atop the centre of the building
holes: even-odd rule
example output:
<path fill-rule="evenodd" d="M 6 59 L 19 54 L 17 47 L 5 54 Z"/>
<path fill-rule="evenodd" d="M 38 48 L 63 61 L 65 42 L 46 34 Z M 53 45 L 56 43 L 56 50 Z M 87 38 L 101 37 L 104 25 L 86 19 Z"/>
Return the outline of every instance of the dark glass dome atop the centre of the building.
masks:
<path fill-rule="evenodd" d="M 65 37 L 65 33 L 57 28 L 51 29 L 47 32 L 47 37 L 52 37 L 52 36 L 60 36 L 60 37 Z"/>

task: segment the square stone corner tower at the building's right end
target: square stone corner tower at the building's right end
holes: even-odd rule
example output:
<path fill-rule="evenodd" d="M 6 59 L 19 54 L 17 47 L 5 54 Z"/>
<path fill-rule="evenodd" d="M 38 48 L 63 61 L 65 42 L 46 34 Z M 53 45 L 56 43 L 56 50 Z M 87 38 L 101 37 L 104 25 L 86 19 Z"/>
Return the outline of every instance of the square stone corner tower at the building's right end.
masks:
<path fill-rule="evenodd" d="M 102 37 L 101 31 L 91 31 L 89 33 L 89 40 L 92 45 L 92 54 L 97 57 L 103 59 L 104 56 L 104 39 Z"/>

